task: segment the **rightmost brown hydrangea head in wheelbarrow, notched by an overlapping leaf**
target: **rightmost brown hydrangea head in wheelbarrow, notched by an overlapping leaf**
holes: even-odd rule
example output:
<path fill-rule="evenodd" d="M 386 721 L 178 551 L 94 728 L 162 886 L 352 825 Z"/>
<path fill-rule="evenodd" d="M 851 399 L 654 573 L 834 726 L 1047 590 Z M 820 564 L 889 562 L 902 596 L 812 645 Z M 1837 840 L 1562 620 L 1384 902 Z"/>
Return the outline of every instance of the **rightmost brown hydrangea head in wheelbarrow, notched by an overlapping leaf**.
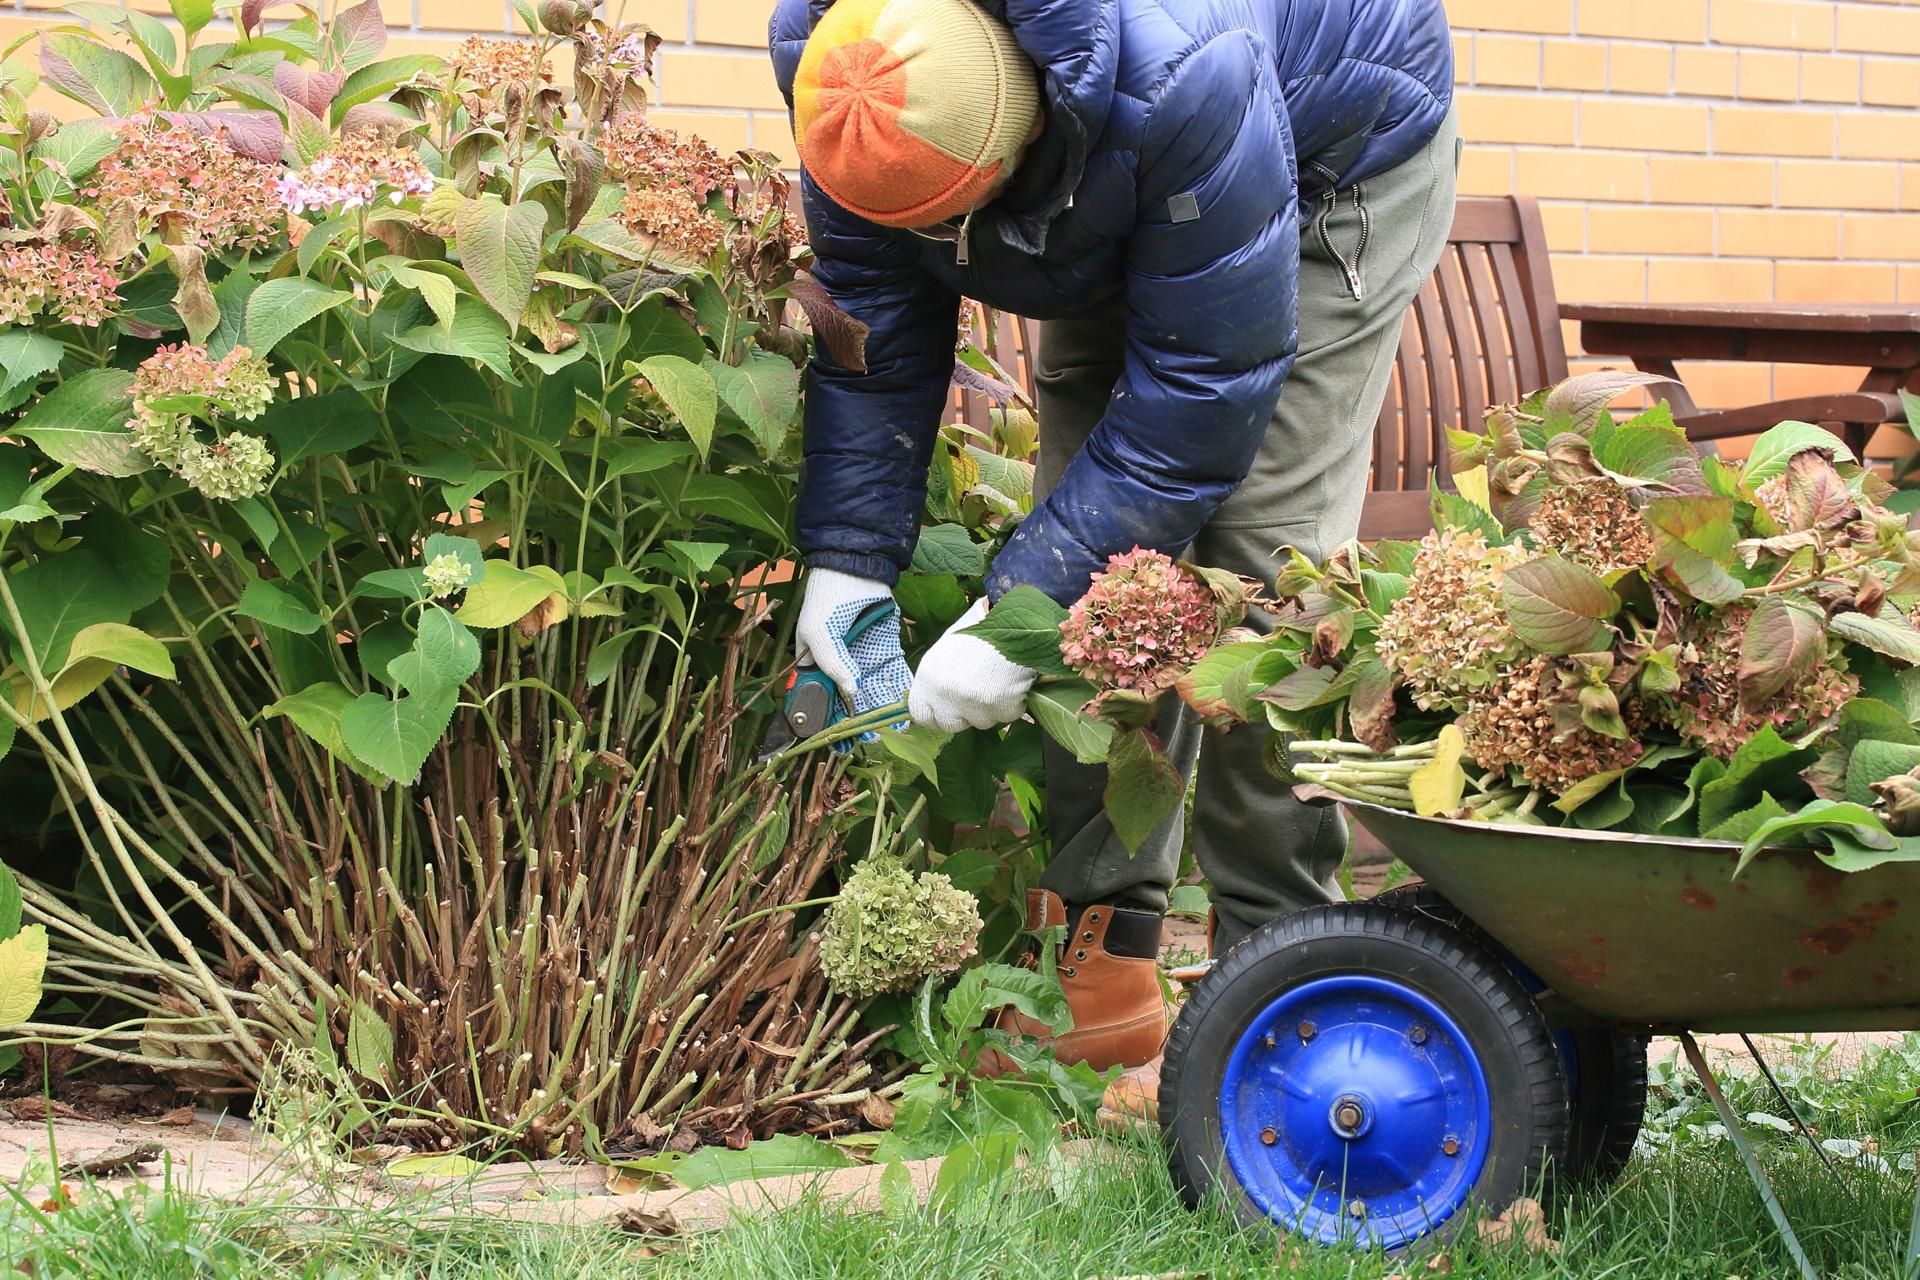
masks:
<path fill-rule="evenodd" d="M 1768 725 L 1786 737 L 1824 725 L 1860 691 L 1837 647 L 1830 647 L 1805 676 L 1761 706 L 1747 706 L 1740 699 L 1740 645 L 1749 618 L 1753 608 L 1736 604 L 1690 620 L 1680 635 L 1680 687 L 1655 699 L 1684 739 L 1720 760 L 1732 760 L 1741 743 Z"/>

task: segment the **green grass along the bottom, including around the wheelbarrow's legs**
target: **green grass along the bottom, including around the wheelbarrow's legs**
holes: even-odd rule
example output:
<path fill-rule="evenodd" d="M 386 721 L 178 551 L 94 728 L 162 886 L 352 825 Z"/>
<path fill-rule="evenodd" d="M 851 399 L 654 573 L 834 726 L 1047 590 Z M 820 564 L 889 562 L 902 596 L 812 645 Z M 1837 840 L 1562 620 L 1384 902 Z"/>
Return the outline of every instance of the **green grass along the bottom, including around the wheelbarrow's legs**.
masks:
<path fill-rule="evenodd" d="M 1822 1050 L 1780 1055 L 1776 1075 L 1803 1119 L 1832 1140 L 1837 1180 L 1803 1142 L 1749 1125 L 1780 1197 L 1822 1276 L 1895 1280 L 1912 1215 L 1920 1148 L 1920 1034 L 1876 1048 L 1836 1073 Z M 1755 1075 L 1724 1075 L 1740 1115 L 1782 1115 Z M 315 1119 L 317 1117 L 317 1119 Z M 296 1151 L 336 1151 L 324 1105 L 282 1132 Z M 307 1132 L 311 1128 L 311 1132 Z M 1609 1188 L 1551 1207 L 1555 1255 L 1450 1247 L 1463 1280 L 1774 1280 L 1793 1276 L 1786 1247 L 1718 1128 L 1699 1084 L 1661 1065 L 1649 1140 Z M 1872 1146 L 1868 1146 L 1868 1142 Z M 1859 1146 L 1855 1146 L 1859 1144 Z M 1878 1151 L 1872 1151 L 1872 1148 Z M 1219 1207 L 1181 1207 L 1150 1142 L 1110 1142 L 1091 1159 L 1043 1161 L 975 1184 L 939 1207 L 897 1203 L 852 1215 L 801 1203 L 722 1232 L 647 1242 L 607 1228 L 518 1224 L 463 1211 L 459 1194 L 367 1207 L 353 1180 L 330 1205 L 284 1178 L 242 1203 L 173 1188 L 83 1196 L 42 1213 L 46 1167 L 0 1188 L 0 1272 L 50 1280 L 1092 1280 L 1094 1276 L 1271 1276 L 1275 1242 L 1233 1228 Z M 889 1201 L 891 1203 L 891 1201 Z M 1419 1259 L 1290 1251 L 1281 1274 L 1302 1280 L 1425 1276 Z M 1916 1278 L 1920 1280 L 1920 1278 Z"/>

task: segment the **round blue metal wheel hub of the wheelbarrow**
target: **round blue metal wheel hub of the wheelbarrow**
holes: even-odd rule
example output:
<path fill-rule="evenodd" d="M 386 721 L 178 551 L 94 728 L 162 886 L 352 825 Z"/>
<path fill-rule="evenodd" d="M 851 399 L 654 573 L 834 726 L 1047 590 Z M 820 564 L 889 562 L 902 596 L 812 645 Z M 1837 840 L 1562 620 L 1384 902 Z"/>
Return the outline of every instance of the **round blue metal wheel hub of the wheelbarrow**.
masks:
<path fill-rule="evenodd" d="M 1321 1244 L 1396 1249 L 1473 1194 L 1492 1100 L 1438 1004 L 1342 975 L 1254 1017 L 1227 1059 L 1219 1123 L 1235 1178 L 1269 1219 Z"/>

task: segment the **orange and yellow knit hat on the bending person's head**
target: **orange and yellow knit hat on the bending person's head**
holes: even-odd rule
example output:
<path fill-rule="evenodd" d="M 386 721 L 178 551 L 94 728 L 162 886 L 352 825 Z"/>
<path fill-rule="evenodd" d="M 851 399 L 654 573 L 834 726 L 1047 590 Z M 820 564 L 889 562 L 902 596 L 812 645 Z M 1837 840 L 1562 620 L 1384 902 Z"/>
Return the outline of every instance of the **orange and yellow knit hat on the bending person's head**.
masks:
<path fill-rule="evenodd" d="M 1039 113 L 1039 73 L 973 0 L 837 0 L 793 77 L 806 173 L 835 203 L 887 226 L 972 209 Z"/>

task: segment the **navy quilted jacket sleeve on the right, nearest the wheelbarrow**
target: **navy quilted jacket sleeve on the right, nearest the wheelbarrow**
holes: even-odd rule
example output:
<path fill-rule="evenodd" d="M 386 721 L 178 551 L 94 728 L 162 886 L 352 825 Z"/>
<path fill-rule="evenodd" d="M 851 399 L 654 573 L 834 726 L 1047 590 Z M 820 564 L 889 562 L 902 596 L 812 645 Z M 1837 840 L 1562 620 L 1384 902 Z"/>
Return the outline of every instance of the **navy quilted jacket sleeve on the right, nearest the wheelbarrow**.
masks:
<path fill-rule="evenodd" d="M 1137 192 L 1125 370 L 1087 447 L 995 558 L 995 597 L 1031 583 L 1071 603 L 1110 555 L 1177 555 L 1246 480 L 1292 368 L 1294 155 L 1254 35 L 1215 36 L 1167 77 Z"/>

